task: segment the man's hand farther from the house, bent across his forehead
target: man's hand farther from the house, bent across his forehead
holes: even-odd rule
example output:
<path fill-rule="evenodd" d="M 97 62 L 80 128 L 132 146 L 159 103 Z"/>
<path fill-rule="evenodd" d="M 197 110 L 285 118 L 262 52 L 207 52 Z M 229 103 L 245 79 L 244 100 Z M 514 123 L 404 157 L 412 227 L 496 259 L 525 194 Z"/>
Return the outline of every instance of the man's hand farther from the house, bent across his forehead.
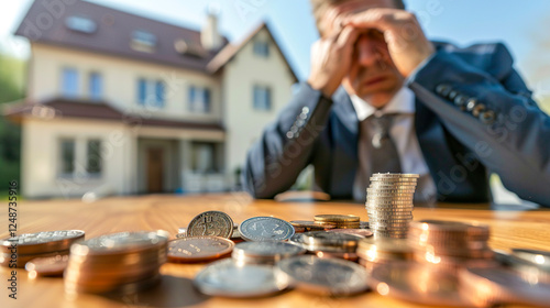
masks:
<path fill-rule="evenodd" d="M 345 28 L 377 29 L 384 33 L 389 56 L 399 73 L 408 77 L 435 53 L 415 14 L 395 9 L 369 9 L 343 20 Z"/>

